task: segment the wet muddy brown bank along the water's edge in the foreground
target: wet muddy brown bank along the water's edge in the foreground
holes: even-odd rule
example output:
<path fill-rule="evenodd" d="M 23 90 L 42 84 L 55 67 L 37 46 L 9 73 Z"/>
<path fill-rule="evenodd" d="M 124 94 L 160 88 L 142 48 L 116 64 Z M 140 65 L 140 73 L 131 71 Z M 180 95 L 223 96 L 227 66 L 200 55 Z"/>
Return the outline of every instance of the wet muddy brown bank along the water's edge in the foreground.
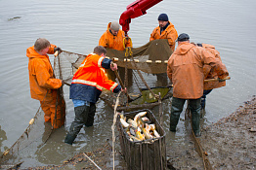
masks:
<path fill-rule="evenodd" d="M 185 120 L 187 121 L 187 120 Z M 190 127 L 190 122 L 187 128 Z M 256 97 L 244 102 L 229 117 L 201 128 L 199 138 L 203 152 L 213 169 L 255 169 L 256 168 Z M 188 129 L 190 131 L 191 129 Z M 172 135 L 175 135 L 173 133 Z M 194 148 L 192 135 L 188 134 L 185 146 L 180 143 L 167 145 L 168 168 L 204 169 L 203 160 Z M 118 139 L 117 139 L 117 142 Z M 168 141 L 166 141 L 167 143 Z M 78 153 L 65 160 L 62 165 L 49 165 L 29 169 L 112 169 L 110 142 L 92 153 Z M 183 150 L 180 150 L 182 148 Z M 90 157 L 91 160 L 88 158 Z M 124 157 L 115 152 L 115 169 L 126 169 Z M 95 164 L 94 164 L 95 163 Z"/>

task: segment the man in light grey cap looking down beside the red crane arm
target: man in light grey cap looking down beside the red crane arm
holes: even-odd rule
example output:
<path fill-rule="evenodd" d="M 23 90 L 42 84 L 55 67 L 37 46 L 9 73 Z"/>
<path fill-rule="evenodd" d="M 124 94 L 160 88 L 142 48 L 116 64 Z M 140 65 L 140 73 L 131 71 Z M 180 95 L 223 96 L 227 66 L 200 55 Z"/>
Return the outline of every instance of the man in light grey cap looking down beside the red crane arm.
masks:
<path fill-rule="evenodd" d="M 116 51 L 124 51 L 125 48 L 132 48 L 132 41 L 129 37 L 125 37 L 125 33 L 120 29 L 120 25 L 116 21 L 107 24 L 107 31 L 102 35 L 99 46 Z M 123 67 L 118 67 L 118 71 L 122 81 L 124 81 L 125 70 Z M 107 70 L 108 78 L 114 81 L 115 75 Z M 132 70 L 128 69 L 128 79 L 132 80 Z M 132 81 L 129 81 L 131 83 Z"/>

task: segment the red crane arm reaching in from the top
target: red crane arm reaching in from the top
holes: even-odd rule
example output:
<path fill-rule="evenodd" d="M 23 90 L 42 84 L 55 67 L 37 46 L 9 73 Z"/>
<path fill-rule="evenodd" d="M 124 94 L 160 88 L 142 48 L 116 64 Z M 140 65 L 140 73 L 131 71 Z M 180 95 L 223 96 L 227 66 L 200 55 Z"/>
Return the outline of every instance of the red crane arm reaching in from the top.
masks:
<path fill-rule="evenodd" d="M 128 5 L 126 11 L 122 13 L 119 18 L 119 23 L 122 26 L 122 30 L 127 35 L 129 31 L 129 24 L 131 23 L 131 18 L 140 17 L 146 15 L 149 8 L 159 3 L 162 0 L 137 0 L 132 4 Z"/>

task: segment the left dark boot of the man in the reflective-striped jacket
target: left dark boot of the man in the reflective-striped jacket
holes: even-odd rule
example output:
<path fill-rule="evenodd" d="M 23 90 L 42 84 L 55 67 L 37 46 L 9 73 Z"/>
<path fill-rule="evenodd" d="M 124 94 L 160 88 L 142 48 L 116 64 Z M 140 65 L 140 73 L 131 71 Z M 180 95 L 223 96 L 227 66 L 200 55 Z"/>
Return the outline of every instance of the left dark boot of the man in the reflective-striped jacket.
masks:
<path fill-rule="evenodd" d="M 74 108 L 75 118 L 71 123 L 68 134 L 65 137 L 65 143 L 72 145 L 77 134 L 80 132 L 81 128 L 87 121 L 89 110 L 90 107 L 86 105 Z"/>

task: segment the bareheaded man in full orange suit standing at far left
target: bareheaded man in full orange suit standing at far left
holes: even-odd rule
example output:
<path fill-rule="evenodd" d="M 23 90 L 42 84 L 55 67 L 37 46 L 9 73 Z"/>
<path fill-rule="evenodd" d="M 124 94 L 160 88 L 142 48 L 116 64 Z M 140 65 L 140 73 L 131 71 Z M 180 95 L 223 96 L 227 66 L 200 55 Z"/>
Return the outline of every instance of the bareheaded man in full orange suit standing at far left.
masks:
<path fill-rule="evenodd" d="M 34 46 L 26 50 L 28 57 L 28 73 L 31 98 L 39 100 L 41 108 L 44 111 L 44 119 L 50 121 L 53 128 L 59 128 L 64 125 L 65 108 L 57 105 L 57 99 L 61 100 L 58 95 L 58 88 L 63 85 L 62 80 L 55 79 L 54 71 L 49 60 L 49 54 L 55 51 L 61 52 L 61 48 L 51 45 L 44 38 L 36 40 Z"/>

